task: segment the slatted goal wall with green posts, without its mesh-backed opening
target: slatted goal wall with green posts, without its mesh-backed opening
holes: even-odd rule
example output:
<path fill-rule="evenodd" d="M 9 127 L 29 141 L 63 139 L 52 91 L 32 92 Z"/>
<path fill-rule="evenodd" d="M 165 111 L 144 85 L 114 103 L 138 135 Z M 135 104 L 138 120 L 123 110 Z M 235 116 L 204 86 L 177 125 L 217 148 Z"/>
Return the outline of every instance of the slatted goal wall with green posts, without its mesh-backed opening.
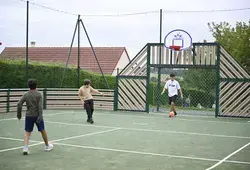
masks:
<path fill-rule="evenodd" d="M 148 43 L 116 77 L 114 110 L 149 112 L 157 74 L 160 95 L 161 69 L 213 69 L 216 72 L 215 116 L 250 117 L 250 74 L 218 43 L 193 43 L 192 48 L 173 51 L 162 43 Z M 202 81 L 202 80 L 201 80 Z M 154 94 L 155 95 L 155 94 Z M 158 97 L 160 98 L 160 97 Z"/>

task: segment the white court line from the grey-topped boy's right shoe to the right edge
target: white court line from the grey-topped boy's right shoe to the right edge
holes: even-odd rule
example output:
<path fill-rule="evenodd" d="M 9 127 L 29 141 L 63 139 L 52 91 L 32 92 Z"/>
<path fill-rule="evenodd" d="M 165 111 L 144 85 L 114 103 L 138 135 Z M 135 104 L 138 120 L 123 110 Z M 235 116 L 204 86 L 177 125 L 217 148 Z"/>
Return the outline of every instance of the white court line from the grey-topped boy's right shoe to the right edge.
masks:
<path fill-rule="evenodd" d="M 170 154 L 151 153 L 151 152 L 141 152 L 141 151 L 132 151 L 132 150 L 123 150 L 123 149 L 102 148 L 102 147 L 92 147 L 92 146 L 83 146 L 83 145 L 73 145 L 73 144 L 66 144 L 66 143 L 55 143 L 55 144 L 70 146 L 70 147 L 75 147 L 75 148 L 113 151 L 113 152 L 122 152 L 122 153 L 132 153 L 132 154 L 140 154 L 140 155 L 161 156 L 161 157 L 191 159 L 191 160 L 210 161 L 210 162 L 218 162 L 219 161 L 218 159 L 199 158 L 199 157 L 180 156 L 180 155 L 170 155 Z M 226 162 L 250 165 L 250 162 L 242 162 L 242 161 L 226 161 Z"/>

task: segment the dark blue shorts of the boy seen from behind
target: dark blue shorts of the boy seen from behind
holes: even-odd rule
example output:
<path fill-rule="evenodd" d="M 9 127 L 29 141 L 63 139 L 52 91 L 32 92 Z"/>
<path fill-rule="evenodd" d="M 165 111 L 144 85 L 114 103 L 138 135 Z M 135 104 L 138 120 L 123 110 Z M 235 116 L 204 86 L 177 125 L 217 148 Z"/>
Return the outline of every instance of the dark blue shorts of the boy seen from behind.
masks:
<path fill-rule="evenodd" d="M 44 130 L 44 121 L 36 123 L 37 117 L 25 117 L 25 131 L 32 132 L 34 129 L 34 124 L 36 124 L 37 130 L 41 132 Z"/>

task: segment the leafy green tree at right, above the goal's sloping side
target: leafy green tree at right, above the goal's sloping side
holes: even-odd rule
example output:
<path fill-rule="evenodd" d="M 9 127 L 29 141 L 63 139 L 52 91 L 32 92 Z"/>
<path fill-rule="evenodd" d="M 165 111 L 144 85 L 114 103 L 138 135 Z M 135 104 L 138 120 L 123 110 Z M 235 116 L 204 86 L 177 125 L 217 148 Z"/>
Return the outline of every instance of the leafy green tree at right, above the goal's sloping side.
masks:
<path fill-rule="evenodd" d="M 250 72 L 250 20 L 236 22 L 235 27 L 227 22 L 208 23 L 208 27 L 216 41 Z"/>

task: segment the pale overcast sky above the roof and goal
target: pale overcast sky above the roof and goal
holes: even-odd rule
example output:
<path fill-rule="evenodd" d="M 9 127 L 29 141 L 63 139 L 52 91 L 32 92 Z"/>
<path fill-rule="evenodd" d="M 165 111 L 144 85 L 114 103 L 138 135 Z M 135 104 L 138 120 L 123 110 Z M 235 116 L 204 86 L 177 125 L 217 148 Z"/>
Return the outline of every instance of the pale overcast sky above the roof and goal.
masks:
<path fill-rule="evenodd" d="M 76 15 L 48 10 L 32 3 L 55 8 Z M 160 41 L 160 9 L 163 10 L 162 39 L 174 29 L 187 31 L 193 42 L 204 39 L 213 42 L 208 22 L 248 22 L 250 10 L 231 12 L 166 12 L 203 11 L 219 9 L 250 8 L 249 0 L 30 0 L 29 42 L 36 46 L 70 47 L 77 14 L 86 27 L 95 47 L 126 47 L 132 59 L 146 43 Z M 26 44 L 25 0 L 0 0 L 0 52 L 5 47 L 24 47 Z M 123 13 L 145 13 L 118 16 Z M 164 12 L 165 11 L 165 12 Z M 115 16 L 100 16 L 114 14 Z M 99 16 L 89 16 L 99 15 Z M 81 46 L 89 47 L 81 27 Z M 74 46 L 77 46 L 77 36 Z"/>

